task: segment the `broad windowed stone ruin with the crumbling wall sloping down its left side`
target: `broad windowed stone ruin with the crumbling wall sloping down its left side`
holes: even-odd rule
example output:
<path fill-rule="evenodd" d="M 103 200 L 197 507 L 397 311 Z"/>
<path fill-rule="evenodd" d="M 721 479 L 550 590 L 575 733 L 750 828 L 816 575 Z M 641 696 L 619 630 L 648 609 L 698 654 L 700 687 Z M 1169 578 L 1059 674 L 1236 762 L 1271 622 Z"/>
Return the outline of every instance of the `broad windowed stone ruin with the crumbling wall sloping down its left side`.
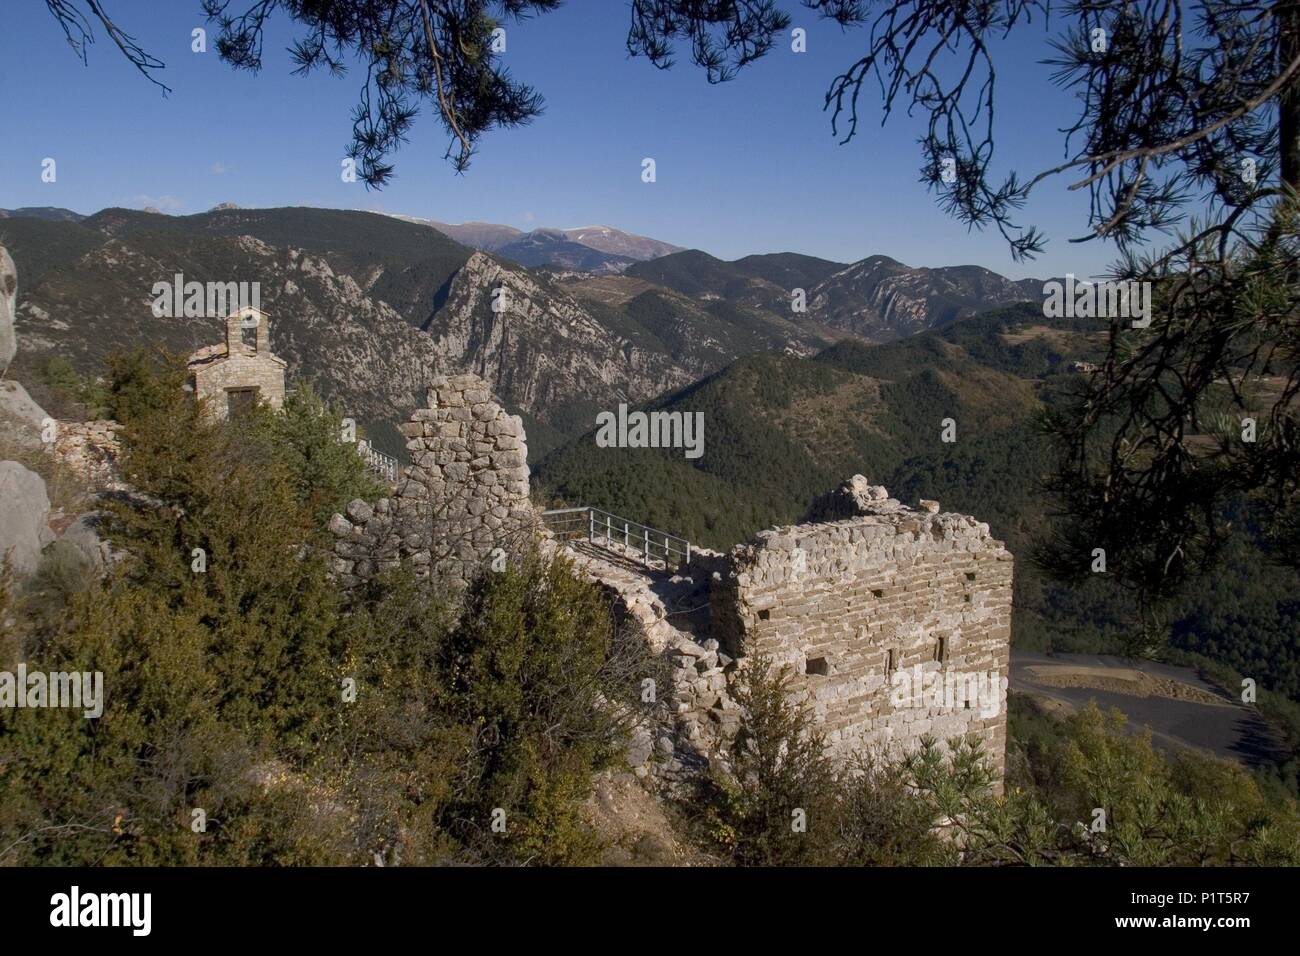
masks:
<path fill-rule="evenodd" d="M 638 777 L 672 784 L 724 762 L 731 691 L 755 653 L 793 671 L 837 760 L 974 735 L 1004 774 L 1011 555 L 988 525 L 854 476 L 803 524 L 728 554 L 693 550 L 671 576 L 586 542 L 571 557 L 671 675 L 628 750 Z"/>

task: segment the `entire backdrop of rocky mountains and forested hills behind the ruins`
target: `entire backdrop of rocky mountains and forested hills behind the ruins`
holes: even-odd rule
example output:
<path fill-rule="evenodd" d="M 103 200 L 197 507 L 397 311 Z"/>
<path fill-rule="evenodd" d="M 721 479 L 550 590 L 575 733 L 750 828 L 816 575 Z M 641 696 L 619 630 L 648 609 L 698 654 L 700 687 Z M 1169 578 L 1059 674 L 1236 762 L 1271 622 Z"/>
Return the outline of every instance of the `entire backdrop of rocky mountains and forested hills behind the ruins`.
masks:
<path fill-rule="evenodd" d="M 0 219 L 18 267 L 20 381 L 52 356 L 95 375 L 114 350 L 217 342 L 218 317 L 155 317 L 153 284 L 256 281 L 290 381 L 313 382 L 394 454 L 394 424 L 429 377 L 473 371 L 525 418 L 549 502 L 729 548 L 863 473 L 1008 541 L 1018 646 L 1098 652 L 1128 618 L 1113 592 L 1062 588 L 1031 559 L 1052 467 L 1037 416 L 1079 390 L 1105 345 L 1092 320 L 1044 317 L 1037 282 L 793 252 L 610 251 L 633 261 L 529 268 L 425 222 L 338 209 L 65 213 Z M 705 412 L 703 457 L 597 449 L 595 412 L 619 402 Z M 941 441 L 944 419 L 956 442 Z M 1295 574 L 1261 555 L 1242 548 L 1171 617 L 1175 644 L 1296 695 Z"/>

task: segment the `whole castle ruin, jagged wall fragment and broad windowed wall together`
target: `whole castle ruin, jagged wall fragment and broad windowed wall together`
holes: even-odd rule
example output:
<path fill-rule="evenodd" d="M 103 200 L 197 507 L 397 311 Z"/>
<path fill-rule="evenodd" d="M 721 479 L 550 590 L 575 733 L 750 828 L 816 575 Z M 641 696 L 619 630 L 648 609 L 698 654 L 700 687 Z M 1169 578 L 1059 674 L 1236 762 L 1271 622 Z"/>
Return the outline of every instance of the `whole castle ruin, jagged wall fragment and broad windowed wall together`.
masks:
<path fill-rule="evenodd" d="M 560 546 L 528 499 L 523 423 L 481 378 L 436 380 L 402 432 L 411 464 L 396 493 L 330 522 L 343 587 L 402 561 L 463 587 L 497 549 Z M 676 574 L 592 544 L 566 553 L 668 665 L 671 685 L 629 747 L 638 777 L 672 783 L 723 758 L 740 719 L 729 687 L 763 653 L 790 669 L 833 756 L 974 735 L 1001 779 L 1013 559 L 987 524 L 932 501 L 907 507 L 859 475 L 803 523 L 727 554 L 694 549 Z"/>

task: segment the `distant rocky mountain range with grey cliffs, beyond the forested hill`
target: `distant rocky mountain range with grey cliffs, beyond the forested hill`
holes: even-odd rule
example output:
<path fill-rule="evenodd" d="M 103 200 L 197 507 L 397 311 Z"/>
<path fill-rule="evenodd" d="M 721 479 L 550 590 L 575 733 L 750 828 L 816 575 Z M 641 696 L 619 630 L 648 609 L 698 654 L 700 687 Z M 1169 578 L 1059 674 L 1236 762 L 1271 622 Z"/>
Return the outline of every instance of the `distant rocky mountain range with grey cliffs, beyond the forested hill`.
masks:
<path fill-rule="evenodd" d="M 10 211 L 0 241 L 20 274 L 14 375 L 52 354 L 99 372 L 108 352 L 139 342 L 188 351 L 218 341 L 216 316 L 156 319 L 153 284 L 176 273 L 256 281 L 290 375 L 342 402 L 381 446 L 400 447 L 393 424 L 430 375 L 467 369 L 493 382 L 525 416 L 534 450 L 546 450 L 599 408 L 684 388 L 745 355 L 888 341 L 1036 294 L 976 267 L 797 254 L 725 261 L 697 250 L 637 259 L 672 247 L 606 226 L 541 238 L 447 228 L 498 250 L 554 242 L 582 252 L 529 268 L 434 224 L 341 209 Z M 619 269 L 607 268 L 612 259 Z M 503 311 L 493 308 L 497 290 Z"/>

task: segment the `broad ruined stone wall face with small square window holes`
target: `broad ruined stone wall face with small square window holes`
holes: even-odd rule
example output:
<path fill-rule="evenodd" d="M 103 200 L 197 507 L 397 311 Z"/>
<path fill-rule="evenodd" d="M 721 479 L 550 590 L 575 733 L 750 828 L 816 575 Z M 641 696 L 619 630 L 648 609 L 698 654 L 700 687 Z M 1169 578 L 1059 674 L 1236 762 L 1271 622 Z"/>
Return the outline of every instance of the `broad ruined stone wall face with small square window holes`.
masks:
<path fill-rule="evenodd" d="M 723 650 L 789 665 L 840 756 L 978 735 L 1001 777 L 1011 554 L 987 524 L 861 476 L 809 516 L 732 550 L 710 596 Z"/>

